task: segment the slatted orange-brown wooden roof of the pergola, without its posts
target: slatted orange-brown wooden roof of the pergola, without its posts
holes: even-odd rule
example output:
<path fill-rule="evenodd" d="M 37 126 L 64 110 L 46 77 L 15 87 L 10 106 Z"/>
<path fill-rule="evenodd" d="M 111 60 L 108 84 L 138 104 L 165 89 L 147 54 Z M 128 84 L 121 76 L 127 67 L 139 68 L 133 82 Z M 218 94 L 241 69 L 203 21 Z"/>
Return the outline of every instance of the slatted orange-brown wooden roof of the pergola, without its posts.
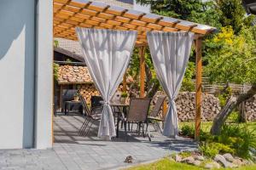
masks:
<path fill-rule="evenodd" d="M 77 41 L 75 27 L 137 31 L 137 46 L 147 31 L 191 31 L 204 36 L 216 28 L 157 14 L 87 0 L 54 0 L 54 36 Z"/>

